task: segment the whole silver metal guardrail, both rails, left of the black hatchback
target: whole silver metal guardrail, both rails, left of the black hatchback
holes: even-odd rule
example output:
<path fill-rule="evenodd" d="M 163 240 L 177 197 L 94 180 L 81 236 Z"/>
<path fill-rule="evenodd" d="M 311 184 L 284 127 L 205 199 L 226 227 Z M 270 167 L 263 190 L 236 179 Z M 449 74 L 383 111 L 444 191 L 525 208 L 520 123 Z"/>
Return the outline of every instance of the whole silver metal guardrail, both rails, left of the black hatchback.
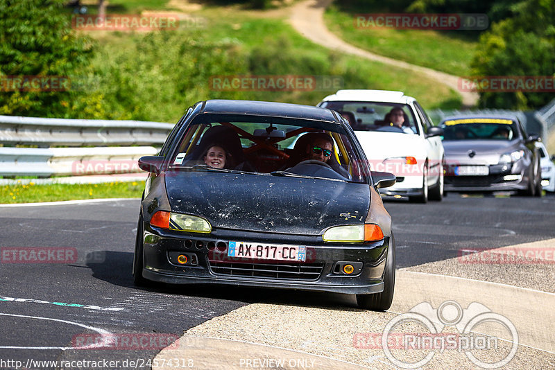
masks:
<path fill-rule="evenodd" d="M 172 128 L 160 122 L 0 116 L 0 143 L 10 146 L 0 147 L 0 176 L 138 173 L 137 159 L 155 155 Z M 74 148 L 83 146 L 96 147 Z"/>

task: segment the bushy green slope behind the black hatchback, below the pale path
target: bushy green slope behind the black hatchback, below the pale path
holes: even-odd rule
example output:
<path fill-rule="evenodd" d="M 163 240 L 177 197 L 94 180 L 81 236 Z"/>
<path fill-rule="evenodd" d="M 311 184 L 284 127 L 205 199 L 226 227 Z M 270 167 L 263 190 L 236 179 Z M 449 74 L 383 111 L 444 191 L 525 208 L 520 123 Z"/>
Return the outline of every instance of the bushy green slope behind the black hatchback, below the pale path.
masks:
<path fill-rule="evenodd" d="M 213 76 L 339 76 L 351 89 L 398 89 L 426 108 L 461 106 L 459 95 L 417 73 L 315 45 L 282 19 L 257 19 L 237 10 L 205 8 L 205 28 L 154 33 L 90 33 L 98 50 L 83 118 L 176 122 L 189 105 L 210 98 L 316 105 L 336 91 L 217 91 Z M 91 109 L 91 102 L 98 102 Z"/>

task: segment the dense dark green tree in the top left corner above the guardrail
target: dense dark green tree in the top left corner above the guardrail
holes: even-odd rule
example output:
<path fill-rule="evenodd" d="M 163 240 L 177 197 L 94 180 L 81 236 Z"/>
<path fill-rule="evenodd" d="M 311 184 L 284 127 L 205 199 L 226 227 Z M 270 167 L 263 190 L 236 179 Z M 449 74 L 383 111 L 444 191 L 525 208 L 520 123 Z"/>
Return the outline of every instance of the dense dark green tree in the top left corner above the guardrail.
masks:
<path fill-rule="evenodd" d="M 0 0 L 0 114 L 63 117 L 83 98 L 71 82 L 48 82 L 83 76 L 92 56 L 92 45 L 72 32 L 62 6 L 62 0 Z M 25 83 L 25 76 L 42 76 L 47 85 L 28 91 L 13 83 Z"/>

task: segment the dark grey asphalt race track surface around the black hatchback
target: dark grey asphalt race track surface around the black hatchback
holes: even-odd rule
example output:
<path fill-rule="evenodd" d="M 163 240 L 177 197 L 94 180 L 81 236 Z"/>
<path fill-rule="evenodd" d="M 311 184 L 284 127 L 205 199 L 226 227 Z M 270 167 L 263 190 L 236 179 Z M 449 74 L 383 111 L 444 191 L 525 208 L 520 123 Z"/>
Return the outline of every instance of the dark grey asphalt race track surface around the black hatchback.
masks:
<path fill-rule="evenodd" d="M 361 314 L 354 299 L 342 294 L 212 286 L 135 288 L 130 272 L 138 206 L 139 200 L 0 206 L 0 368 L 53 368 L 30 360 L 101 359 L 119 361 L 117 366 L 103 368 L 150 368 L 146 366 L 149 361 L 185 331 L 239 308 L 246 310 L 248 305 L 307 311 L 318 308 L 332 317 L 342 310 Z M 552 244 L 552 259 L 546 254 L 540 263 L 457 263 L 466 249 L 499 249 L 555 238 L 555 197 L 466 197 L 452 193 L 443 202 L 428 204 L 388 200 L 386 209 L 394 222 L 398 284 L 404 283 L 403 276 L 409 272 L 418 272 L 555 292 Z M 37 263 L 40 261 L 31 258 L 36 247 L 57 247 L 66 259 L 62 263 Z M 28 261 L 14 261 L 10 252 L 14 249 L 26 250 Z M 406 288 L 396 288 L 391 312 L 404 310 L 402 292 Z M 552 311 L 550 306 L 538 309 L 545 310 L 546 318 Z M 524 317 L 525 312 L 515 315 Z M 517 316 L 511 319 L 518 321 Z M 260 314 L 250 319 L 265 318 Z M 553 328 L 553 321 L 549 324 Z M 149 335 L 155 341 L 147 349 L 76 349 L 83 338 L 107 333 L 132 339 L 134 334 Z M 273 345 L 289 348 L 279 338 L 273 340 Z M 547 366 L 553 364 L 553 350 L 539 349 Z M 126 366 L 125 360 L 134 360 L 135 366 Z"/>

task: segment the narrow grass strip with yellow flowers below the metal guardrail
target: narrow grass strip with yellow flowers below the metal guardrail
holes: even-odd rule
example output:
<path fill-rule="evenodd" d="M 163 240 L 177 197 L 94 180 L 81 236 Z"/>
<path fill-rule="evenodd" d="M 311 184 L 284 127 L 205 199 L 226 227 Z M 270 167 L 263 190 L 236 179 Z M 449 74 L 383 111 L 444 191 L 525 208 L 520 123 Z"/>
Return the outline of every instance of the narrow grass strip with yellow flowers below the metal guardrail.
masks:
<path fill-rule="evenodd" d="M 144 182 L 111 182 L 106 184 L 49 184 L 0 186 L 0 204 L 54 202 L 100 198 L 141 197 Z"/>

